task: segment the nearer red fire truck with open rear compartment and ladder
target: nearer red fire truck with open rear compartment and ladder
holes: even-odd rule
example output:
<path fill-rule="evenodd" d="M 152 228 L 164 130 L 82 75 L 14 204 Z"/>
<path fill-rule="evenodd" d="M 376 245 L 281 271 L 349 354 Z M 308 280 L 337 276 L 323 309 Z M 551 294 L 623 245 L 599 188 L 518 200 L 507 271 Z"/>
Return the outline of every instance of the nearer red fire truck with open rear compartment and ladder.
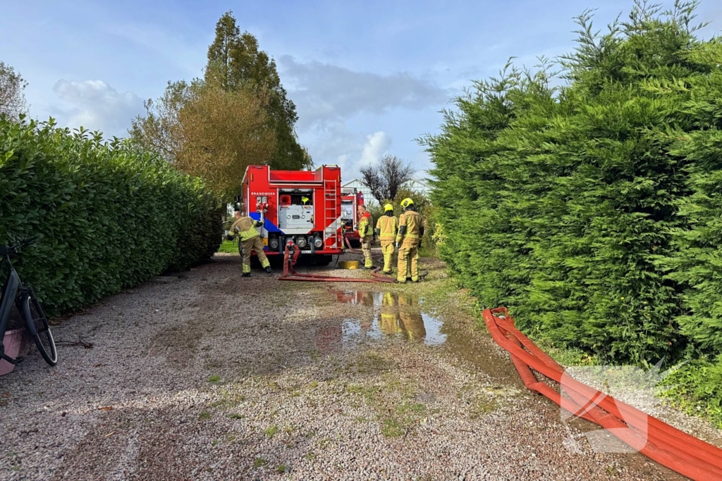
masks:
<path fill-rule="evenodd" d="M 271 170 L 249 165 L 240 206 L 253 219 L 262 216 L 264 225 L 258 229 L 267 256 L 283 255 L 288 239 L 321 265 L 342 252 L 340 167 Z"/>

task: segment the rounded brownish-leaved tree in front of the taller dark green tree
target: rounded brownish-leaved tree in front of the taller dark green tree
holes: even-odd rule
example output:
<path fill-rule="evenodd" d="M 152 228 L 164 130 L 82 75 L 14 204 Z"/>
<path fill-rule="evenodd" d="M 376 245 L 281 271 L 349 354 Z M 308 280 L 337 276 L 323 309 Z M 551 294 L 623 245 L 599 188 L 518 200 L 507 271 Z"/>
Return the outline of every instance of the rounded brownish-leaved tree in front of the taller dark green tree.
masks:
<path fill-rule="evenodd" d="M 131 139 L 160 152 L 190 175 L 204 177 L 223 199 L 240 192 L 245 167 L 266 164 L 276 138 L 267 122 L 269 93 L 248 87 L 227 92 L 195 80 L 168 82 L 163 96 L 145 102 Z"/>

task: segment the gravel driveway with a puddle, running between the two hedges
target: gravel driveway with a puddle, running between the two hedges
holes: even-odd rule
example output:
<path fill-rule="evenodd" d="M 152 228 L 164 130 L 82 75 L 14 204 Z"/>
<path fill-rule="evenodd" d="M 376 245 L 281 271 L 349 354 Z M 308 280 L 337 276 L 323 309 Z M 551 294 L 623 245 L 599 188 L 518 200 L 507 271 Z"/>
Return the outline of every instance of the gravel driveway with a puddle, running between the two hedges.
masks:
<path fill-rule="evenodd" d="M 425 268 L 418 285 L 295 283 L 217 255 L 65 319 L 55 368 L 33 348 L 0 377 L 0 479 L 683 479 L 567 451 L 559 410 Z"/>

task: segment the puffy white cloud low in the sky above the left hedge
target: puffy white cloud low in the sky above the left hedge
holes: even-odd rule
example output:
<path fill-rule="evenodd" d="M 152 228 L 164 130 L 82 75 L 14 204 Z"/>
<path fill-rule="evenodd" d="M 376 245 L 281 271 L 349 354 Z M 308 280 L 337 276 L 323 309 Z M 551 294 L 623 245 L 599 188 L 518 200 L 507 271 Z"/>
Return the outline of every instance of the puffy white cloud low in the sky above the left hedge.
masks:
<path fill-rule="evenodd" d="M 133 92 L 118 92 L 102 80 L 59 80 L 53 87 L 64 106 L 53 107 L 58 121 L 102 131 L 106 138 L 127 136 L 131 119 L 142 112 L 143 101 Z"/>

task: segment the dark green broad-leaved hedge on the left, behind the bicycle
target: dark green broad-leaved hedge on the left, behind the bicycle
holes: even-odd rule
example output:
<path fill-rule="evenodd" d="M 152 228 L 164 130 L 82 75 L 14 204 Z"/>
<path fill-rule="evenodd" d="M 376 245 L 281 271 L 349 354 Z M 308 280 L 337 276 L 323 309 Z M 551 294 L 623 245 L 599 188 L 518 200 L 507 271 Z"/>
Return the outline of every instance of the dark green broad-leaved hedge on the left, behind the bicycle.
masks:
<path fill-rule="evenodd" d="M 0 118 L 0 244 L 43 234 L 17 268 L 48 314 L 209 259 L 221 216 L 201 180 L 155 154 Z"/>

